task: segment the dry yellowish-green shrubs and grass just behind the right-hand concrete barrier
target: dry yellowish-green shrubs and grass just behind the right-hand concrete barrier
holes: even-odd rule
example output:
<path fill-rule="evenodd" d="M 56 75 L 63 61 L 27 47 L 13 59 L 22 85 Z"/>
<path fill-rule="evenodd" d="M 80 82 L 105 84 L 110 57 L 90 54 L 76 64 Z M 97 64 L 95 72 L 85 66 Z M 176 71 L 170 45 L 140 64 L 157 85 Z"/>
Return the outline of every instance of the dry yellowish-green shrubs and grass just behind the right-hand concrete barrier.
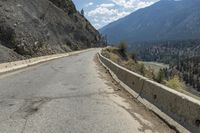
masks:
<path fill-rule="evenodd" d="M 185 89 L 185 83 L 177 75 L 170 75 L 167 68 L 160 69 L 159 72 L 154 72 L 154 69 L 147 69 L 143 63 L 139 63 L 134 53 L 130 54 L 127 52 L 125 43 L 120 43 L 118 47 L 104 49 L 102 55 L 133 72 L 164 84 L 172 89 Z"/>

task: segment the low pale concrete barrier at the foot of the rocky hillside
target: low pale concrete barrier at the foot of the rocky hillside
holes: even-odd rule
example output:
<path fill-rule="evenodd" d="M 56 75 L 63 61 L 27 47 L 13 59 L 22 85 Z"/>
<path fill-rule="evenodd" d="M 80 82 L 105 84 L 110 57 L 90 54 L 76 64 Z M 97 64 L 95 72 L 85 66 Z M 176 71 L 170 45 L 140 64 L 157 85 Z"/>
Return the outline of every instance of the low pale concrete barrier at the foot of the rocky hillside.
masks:
<path fill-rule="evenodd" d="M 2 63 L 2 64 L 0 64 L 0 73 L 13 71 L 13 70 L 16 70 L 16 69 L 24 68 L 24 67 L 27 67 L 27 66 L 35 65 L 35 64 L 38 64 L 38 63 L 42 63 L 42 62 L 57 59 L 57 58 L 62 58 L 62 57 L 70 56 L 70 55 L 79 54 L 79 53 L 82 53 L 82 52 L 86 52 L 88 50 L 90 50 L 90 49 L 75 51 L 75 52 L 69 52 L 69 53 L 64 53 L 64 54 L 54 54 L 54 55 L 41 56 L 41 57 L 31 58 L 31 59 L 27 59 L 27 60 L 20 60 L 20 61 Z"/>

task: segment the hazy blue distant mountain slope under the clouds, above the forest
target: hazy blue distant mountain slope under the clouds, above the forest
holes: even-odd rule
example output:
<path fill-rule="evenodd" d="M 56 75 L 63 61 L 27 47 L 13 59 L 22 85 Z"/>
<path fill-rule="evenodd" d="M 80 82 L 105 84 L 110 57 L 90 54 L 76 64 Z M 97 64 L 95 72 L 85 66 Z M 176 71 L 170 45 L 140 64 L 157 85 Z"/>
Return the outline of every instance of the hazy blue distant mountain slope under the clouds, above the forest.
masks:
<path fill-rule="evenodd" d="M 110 43 L 200 39 L 200 0 L 161 0 L 99 31 Z"/>

